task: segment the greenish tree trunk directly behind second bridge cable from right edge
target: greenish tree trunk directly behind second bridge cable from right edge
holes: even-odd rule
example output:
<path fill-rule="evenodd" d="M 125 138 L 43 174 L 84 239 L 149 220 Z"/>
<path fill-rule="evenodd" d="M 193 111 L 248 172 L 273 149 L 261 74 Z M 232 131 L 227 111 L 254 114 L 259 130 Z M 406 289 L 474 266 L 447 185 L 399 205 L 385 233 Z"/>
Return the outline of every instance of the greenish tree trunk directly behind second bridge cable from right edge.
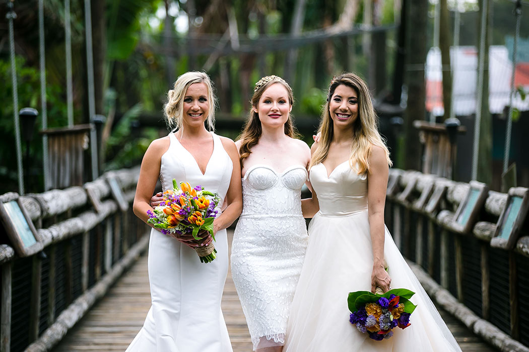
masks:
<path fill-rule="evenodd" d="M 481 124 L 479 126 L 479 147 L 478 147 L 478 173 L 477 180 L 479 182 L 490 185 L 492 183 L 492 116 L 489 112 L 489 38 L 490 38 L 490 7 L 492 2 L 490 0 L 481 0 L 479 6 L 479 18 L 481 19 L 481 11 L 483 3 L 487 2 L 487 14 L 485 21 L 485 47 L 483 52 L 478 54 L 484 55 L 484 74 L 483 87 L 477 89 L 483 90 L 483 99 L 481 100 Z M 481 20 L 480 20 L 481 22 Z M 479 32 L 478 32 L 479 33 Z M 477 91 L 477 90 L 476 90 Z"/>

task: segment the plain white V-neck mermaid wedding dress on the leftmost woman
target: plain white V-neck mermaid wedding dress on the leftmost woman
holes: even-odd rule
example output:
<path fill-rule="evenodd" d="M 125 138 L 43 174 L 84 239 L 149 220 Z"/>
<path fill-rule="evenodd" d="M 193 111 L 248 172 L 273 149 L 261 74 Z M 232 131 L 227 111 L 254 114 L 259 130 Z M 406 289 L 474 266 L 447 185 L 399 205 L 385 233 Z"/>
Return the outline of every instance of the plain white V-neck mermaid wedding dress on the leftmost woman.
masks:
<path fill-rule="evenodd" d="M 161 158 L 163 191 L 178 183 L 200 185 L 217 192 L 222 204 L 230 185 L 232 160 L 220 138 L 212 133 L 213 154 L 203 175 L 193 156 L 175 135 Z M 217 208 L 220 215 L 220 208 Z M 143 328 L 127 352 L 231 352 L 230 338 L 221 311 L 228 248 L 226 230 L 215 234 L 217 258 L 200 263 L 197 253 L 176 239 L 151 230 L 149 283 L 152 306 Z"/>

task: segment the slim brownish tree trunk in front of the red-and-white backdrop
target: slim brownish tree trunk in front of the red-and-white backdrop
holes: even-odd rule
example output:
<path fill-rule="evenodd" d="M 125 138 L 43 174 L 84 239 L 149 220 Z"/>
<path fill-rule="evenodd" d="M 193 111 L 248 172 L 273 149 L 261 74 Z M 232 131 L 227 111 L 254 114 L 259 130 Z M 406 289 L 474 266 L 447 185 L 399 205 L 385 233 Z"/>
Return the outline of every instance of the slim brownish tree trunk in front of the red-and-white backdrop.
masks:
<path fill-rule="evenodd" d="M 443 120 L 450 117 L 452 104 L 452 75 L 450 66 L 450 26 L 448 18 L 448 4 L 440 0 L 441 14 L 439 20 L 439 49 L 441 50 L 441 67 L 443 72 Z"/>

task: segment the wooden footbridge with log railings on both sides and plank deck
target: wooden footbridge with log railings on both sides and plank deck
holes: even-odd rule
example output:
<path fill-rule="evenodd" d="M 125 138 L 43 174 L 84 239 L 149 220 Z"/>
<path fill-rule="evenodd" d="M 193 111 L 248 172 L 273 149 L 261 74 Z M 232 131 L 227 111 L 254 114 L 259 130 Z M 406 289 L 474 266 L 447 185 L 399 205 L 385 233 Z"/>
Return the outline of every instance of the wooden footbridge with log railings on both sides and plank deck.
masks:
<path fill-rule="evenodd" d="M 0 352 L 130 344 L 150 307 L 149 227 L 131 210 L 138 174 L 0 195 Z M 391 170 L 385 222 L 464 351 L 529 352 L 528 206 L 527 188 Z M 222 308 L 234 351 L 250 351 L 231 275 Z"/>

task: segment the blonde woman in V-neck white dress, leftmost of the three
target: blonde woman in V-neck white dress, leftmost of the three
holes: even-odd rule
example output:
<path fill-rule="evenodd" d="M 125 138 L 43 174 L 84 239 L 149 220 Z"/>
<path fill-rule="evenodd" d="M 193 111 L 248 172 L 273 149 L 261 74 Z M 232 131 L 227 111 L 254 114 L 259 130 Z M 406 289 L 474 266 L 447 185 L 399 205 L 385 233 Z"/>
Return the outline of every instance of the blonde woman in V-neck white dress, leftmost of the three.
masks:
<path fill-rule="evenodd" d="M 134 214 L 147 222 L 158 178 L 163 191 L 172 179 L 217 192 L 229 205 L 213 223 L 217 258 L 201 263 L 186 245 L 190 236 L 172 237 L 152 229 L 149 242 L 149 283 L 152 306 L 143 328 L 127 352 L 231 352 L 221 311 L 228 249 L 226 227 L 242 208 L 241 168 L 234 142 L 213 133 L 215 97 L 203 72 L 178 77 L 168 93 L 165 115 L 176 128 L 154 140 L 143 157 L 134 197 Z M 207 121 L 210 131 L 205 127 Z M 211 242 L 211 236 L 200 245 Z"/>

